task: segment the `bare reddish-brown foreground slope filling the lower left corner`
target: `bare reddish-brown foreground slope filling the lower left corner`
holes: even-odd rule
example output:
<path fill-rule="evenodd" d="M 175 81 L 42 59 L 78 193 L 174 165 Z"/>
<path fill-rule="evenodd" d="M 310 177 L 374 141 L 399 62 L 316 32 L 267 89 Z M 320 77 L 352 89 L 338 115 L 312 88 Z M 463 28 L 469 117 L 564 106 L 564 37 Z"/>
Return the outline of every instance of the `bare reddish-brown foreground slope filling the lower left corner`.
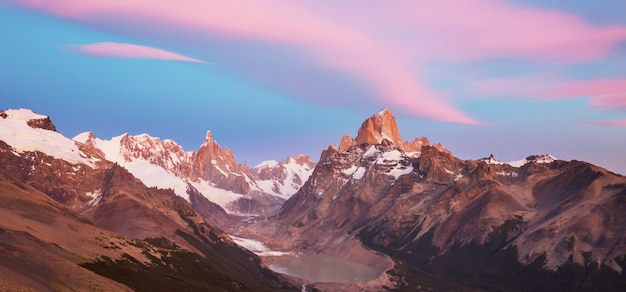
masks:
<path fill-rule="evenodd" d="M 4 287 L 128 290 L 122 283 L 138 291 L 296 288 L 206 224 L 171 191 L 135 185 L 136 179 L 119 167 L 105 176 L 110 189 L 104 193 L 111 197 L 103 200 L 110 201 L 99 204 L 92 225 L 0 173 Z"/>

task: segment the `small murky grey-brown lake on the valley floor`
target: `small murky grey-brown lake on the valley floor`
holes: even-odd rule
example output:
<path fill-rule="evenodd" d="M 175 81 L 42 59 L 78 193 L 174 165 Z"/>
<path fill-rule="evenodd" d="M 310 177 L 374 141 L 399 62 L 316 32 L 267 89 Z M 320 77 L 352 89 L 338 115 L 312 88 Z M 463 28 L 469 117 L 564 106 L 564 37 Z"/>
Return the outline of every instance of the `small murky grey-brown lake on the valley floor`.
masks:
<path fill-rule="evenodd" d="M 378 273 L 363 264 L 318 256 L 283 256 L 272 260 L 275 272 L 307 279 L 311 282 L 358 283 L 376 279 Z"/>

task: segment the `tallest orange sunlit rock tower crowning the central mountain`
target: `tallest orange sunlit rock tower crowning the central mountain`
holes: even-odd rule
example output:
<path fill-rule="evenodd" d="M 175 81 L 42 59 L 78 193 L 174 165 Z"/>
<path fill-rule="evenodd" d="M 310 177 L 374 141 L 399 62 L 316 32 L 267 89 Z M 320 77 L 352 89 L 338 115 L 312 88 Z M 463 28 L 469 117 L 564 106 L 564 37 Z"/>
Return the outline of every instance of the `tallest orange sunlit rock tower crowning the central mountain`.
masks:
<path fill-rule="evenodd" d="M 361 124 L 356 137 L 356 144 L 380 144 L 385 139 L 393 142 L 394 145 L 402 145 L 402 137 L 396 124 L 396 118 L 387 108 L 383 108 L 379 113 Z"/>

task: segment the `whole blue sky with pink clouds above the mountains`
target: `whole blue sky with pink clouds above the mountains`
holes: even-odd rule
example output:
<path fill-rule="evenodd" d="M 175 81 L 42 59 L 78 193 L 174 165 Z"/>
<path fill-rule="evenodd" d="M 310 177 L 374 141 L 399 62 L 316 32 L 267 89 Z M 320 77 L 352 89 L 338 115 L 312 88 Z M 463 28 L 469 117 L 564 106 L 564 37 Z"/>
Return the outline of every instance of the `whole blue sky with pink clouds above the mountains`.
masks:
<path fill-rule="evenodd" d="M 626 174 L 626 1 L 0 0 L 0 108 L 68 137 L 205 134 L 240 163 L 389 108 L 462 159 Z"/>

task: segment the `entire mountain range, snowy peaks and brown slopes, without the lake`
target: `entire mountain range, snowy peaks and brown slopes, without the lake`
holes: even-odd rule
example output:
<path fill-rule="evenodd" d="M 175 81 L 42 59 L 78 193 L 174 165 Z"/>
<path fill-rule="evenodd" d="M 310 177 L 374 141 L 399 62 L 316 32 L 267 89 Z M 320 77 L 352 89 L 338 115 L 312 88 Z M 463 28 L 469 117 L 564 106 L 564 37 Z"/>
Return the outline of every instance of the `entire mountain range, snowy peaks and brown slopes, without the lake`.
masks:
<path fill-rule="evenodd" d="M 318 162 L 295 155 L 255 167 L 211 132 L 186 151 L 147 134 L 70 139 L 26 109 L 0 117 L 5 287 L 626 287 L 626 178 L 586 162 L 463 160 L 425 137 L 404 141 L 388 109 Z M 242 238 L 366 265 L 376 277 L 333 284 L 277 274 L 268 269 L 277 258 L 259 258 L 237 245 Z M 29 268 L 44 259 L 45 273 Z"/>

